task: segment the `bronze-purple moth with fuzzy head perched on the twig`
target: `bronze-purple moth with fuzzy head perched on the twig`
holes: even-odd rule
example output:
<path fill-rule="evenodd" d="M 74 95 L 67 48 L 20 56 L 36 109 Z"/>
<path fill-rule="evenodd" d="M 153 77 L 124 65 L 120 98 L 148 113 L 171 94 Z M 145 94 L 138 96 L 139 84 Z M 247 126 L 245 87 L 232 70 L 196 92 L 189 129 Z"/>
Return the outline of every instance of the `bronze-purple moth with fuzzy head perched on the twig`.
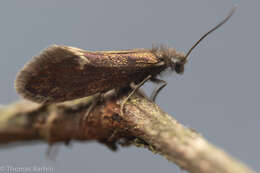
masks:
<path fill-rule="evenodd" d="M 166 69 L 182 74 L 192 50 L 223 25 L 235 9 L 205 33 L 186 54 L 166 46 L 91 52 L 53 45 L 24 66 L 17 75 L 15 88 L 23 98 L 38 103 L 73 100 L 147 80 L 163 83 L 158 92 L 166 82 L 157 76 Z"/>

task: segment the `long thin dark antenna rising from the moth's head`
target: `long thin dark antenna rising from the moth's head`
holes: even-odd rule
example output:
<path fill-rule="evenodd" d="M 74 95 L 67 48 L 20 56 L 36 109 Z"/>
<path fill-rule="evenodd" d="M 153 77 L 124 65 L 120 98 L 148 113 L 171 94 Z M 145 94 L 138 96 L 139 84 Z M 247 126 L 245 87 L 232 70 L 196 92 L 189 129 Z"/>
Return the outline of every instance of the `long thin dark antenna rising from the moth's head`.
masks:
<path fill-rule="evenodd" d="M 234 12 L 237 9 L 237 5 L 235 5 L 232 10 L 229 12 L 229 14 L 227 15 L 227 17 L 225 17 L 225 19 L 223 19 L 221 22 L 219 22 L 219 24 L 217 24 L 214 28 L 210 29 L 207 33 L 205 33 L 191 48 L 190 50 L 187 52 L 187 54 L 185 55 L 185 59 L 188 58 L 188 56 L 190 55 L 190 53 L 193 51 L 193 49 L 205 38 L 207 37 L 210 33 L 212 33 L 213 31 L 215 31 L 216 29 L 218 29 L 220 26 L 222 26 L 224 23 L 226 23 L 229 18 L 234 14 Z"/>

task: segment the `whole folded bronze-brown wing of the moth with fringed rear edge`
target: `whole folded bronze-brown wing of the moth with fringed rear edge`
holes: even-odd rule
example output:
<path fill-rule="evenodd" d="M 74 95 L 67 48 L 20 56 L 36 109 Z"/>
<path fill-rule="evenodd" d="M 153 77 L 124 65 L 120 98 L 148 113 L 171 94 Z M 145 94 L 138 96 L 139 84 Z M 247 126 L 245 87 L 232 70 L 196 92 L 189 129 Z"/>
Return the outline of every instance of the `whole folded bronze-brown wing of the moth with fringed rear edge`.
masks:
<path fill-rule="evenodd" d="M 39 103 L 89 96 L 113 88 L 118 82 L 109 81 L 125 69 L 135 71 L 158 61 L 146 52 L 142 49 L 88 52 L 54 45 L 24 66 L 17 75 L 15 88 L 23 98 Z"/>

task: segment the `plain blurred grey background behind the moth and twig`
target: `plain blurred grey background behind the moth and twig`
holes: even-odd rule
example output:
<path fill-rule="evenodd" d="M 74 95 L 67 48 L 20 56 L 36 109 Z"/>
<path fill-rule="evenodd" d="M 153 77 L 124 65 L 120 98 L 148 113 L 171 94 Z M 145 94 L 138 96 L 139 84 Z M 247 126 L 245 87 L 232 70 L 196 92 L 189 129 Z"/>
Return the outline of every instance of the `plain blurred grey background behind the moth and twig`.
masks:
<path fill-rule="evenodd" d="M 222 20 L 231 20 L 191 54 L 183 75 L 167 75 L 157 103 L 184 125 L 260 171 L 259 0 L 14 0 L 0 2 L 0 104 L 19 99 L 16 73 L 51 44 L 88 50 L 151 48 L 187 51 Z M 150 92 L 154 85 L 144 88 Z M 0 166 L 45 166 L 54 172 L 184 172 L 146 149 L 116 153 L 97 143 L 61 146 L 56 161 L 46 144 L 0 149 Z"/>

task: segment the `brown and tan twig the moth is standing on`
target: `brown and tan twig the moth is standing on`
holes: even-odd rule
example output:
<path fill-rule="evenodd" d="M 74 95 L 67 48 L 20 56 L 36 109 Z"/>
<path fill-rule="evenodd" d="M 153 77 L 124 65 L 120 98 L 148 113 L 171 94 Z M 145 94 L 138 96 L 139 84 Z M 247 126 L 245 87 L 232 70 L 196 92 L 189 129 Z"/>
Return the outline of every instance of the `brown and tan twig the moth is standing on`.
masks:
<path fill-rule="evenodd" d="M 83 117 L 96 96 L 52 105 L 20 101 L 0 109 L 0 143 L 45 140 L 50 144 L 70 140 L 97 140 L 111 149 L 135 144 L 159 153 L 191 173 L 250 173 L 242 163 L 207 142 L 155 103 L 136 93 L 111 94 Z"/>

